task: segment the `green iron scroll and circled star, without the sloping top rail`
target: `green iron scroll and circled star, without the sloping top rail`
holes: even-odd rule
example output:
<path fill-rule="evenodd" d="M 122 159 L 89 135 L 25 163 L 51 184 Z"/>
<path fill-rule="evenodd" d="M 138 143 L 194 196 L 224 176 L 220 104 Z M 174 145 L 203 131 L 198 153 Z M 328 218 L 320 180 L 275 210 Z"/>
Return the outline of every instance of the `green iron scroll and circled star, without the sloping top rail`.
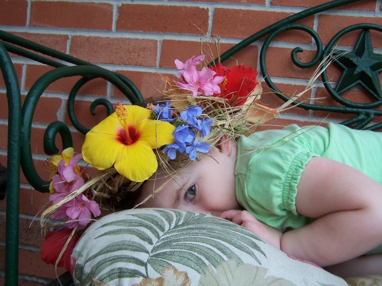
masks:
<path fill-rule="evenodd" d="M 371 40 L 370 40 L 370 33 L 369 30 L 375 30 L 378 32 L 382 32 L 382 27 L 374 24 L 357 24 L 350 27 L 347 27 L 340 32 L 338 32 L 328 43 L 328 45 L 325 47 L 325 49 L 322 49 L 322 43 L 319 38 L 319 36 L 316 34 L 315 31 L 313 31 L 311 28 L 303 26 L 303 25 L 287 25 L 285 27 L 279 28 L 273 33 L 269 35 L 269 37 L 264 41 L 264 44 L 260 51 L 260 69 L 264 76 L 264 80 L 267 83 L 267 85 L 274 91 L 274 93 L 283 99 L 284 101 L 289 100 L 289 97 L 283 95 L 283 93 L 276 87 L 276 85 L 273 83 L 271 75 L 268 74 L 265 64 L 265 58 L 266 58 L 266 51 L 270 44 L 270 42 L 276 37 L 276 35 L 280 32 L 287 31 L 287 30 L 303 30 L 308 32 L 314 39 L 317 51 L 314 59 L 307 63 L 301 63 L 297 59 L 297 53 L 302 52 L 303 49 L 301 48 L 295 48 L 292 51 L 291 57 L 294 64 L 300 68 L 309 68 L 313 67 L 318 63 L 318 61 L 328 61 L 327 56 L 332 55 L 332 57 L 338 57 L 336 58 L 335 62 L 339 63 L 342 67 L 344 67 L 345 64 L 342 64 L 341 62 L 344 61 L 347 63 L 351 69 L 350 72 L 344 73 L 341 77 L 342 82 L 346 82 L 348 86 L 345 86 L 343 83 L 341 85 L 341 88 L 338 88 L 341 84 L 341 80 L 339 83 L 337 83 L 336 87 L 333 88 L 330 81 L 328 80 L 327 71 L 324 70 L 322 73 L 322 79 L 323 84 L 328 91 L 328 93 L 332 96 L 332 98 L 340 103 L 343 106 L 332 106 L 332 105 L 317 105 L 317 104 L 310 104 L 310 103 L 301 103 L 296 102 L 295 104 L 299 104 L 299 107 L 307 109 L 307 110 L 323 110 L 328 112 L 336 112 L 336 113 L 345 113 L 345 114 L 354 114 L 355 117 L 351 118 L 349 120 L 345 120 L 342 122 L 344 125 L 352 125 L 355 129 L 361 129 L 364 128 L 368 123 L 370 123 L 375 116 L 382 115 L 382 111 L 380 110 L 374 110 L 373 108 L 376 108 L 382 104 L 382 96 L 381 96 L 381 90 L 380 90 L 380 82 L 377 76 L 377 73 L 382 70 L 382 55 L 374 54 L 373 48 L 371 46 Z M 341 51 L 337 50 L 335 47 L 335 44 L 338 42 L 338 40 L 346 35 L 349 32 L 360 30 L 360 36 L 357 42 L 356 47 L 354 48 L 354 51 Z M 365 71 L 367 69 L 367 71 Z M 348 69 L 347 69 L 348 70 Z M 347 71 L 346 70 L 346 71 Z M 358 73 L 364 73 L 365 75 L 362 78 L 362 75 L 359 75 Z M 371 74 L 370 74 L 371 73 Z M 351 77 L 349 79 L 346 79 L 346 75 Z M 365 82 L 363 82 L 364 80 Z M 363 86 L 375 99 L 373 102 L 370 103 L 358 103 L 358 102 L 352 102 L 349 100 L 346 100 L 341 96 L 342 93 L 344 93 L 349 88 L 353 87 L 356 84 L 360 84 Z M 367 129 L 376 130 L 381 128 L 381 124 L 375 124 L 369 127 L 366 127 Z"/>

